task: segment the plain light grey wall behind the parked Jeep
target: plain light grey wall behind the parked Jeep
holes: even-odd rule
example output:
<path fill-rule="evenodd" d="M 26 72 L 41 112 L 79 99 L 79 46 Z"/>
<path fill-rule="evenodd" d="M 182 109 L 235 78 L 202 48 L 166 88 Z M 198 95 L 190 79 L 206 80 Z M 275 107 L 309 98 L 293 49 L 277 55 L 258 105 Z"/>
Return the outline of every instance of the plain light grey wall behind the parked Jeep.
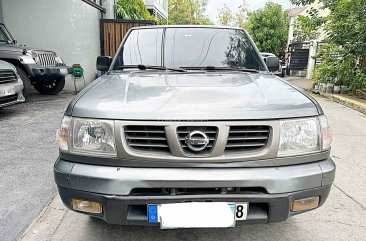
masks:
<path fill-rule="evenodd" d="M 113 6 L 114 1 L 104 2 Z M 81 0 L 3 0 L 3 12 L 19 44 L 53 50 L 68 65 L 81 64 L 87 82 L 94 80 L 100 55 L 99 10 Z M 65 88 L 74 88 L 71 77 Z"/>

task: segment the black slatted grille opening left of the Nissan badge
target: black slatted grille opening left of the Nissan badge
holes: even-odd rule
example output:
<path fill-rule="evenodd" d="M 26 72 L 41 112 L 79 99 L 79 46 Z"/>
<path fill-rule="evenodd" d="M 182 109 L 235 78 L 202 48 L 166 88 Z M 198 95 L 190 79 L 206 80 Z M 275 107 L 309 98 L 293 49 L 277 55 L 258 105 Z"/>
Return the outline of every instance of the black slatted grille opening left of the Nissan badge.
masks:
<path fill-rule="evenodd" d="M 164 126 L 126 126 L 127 145 L 138 151 L 170 152 Z"/>

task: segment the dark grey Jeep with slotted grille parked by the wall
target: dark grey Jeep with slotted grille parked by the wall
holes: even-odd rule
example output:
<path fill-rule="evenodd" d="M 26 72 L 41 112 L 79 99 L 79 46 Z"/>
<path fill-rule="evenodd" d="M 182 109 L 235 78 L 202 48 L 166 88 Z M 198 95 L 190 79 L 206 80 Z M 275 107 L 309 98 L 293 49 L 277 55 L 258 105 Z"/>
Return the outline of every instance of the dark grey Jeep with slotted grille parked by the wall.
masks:
<path fill-rule="evenodd" d="M 24 90 L 32 85 L 41 94 L 55 95 L 65 87 L 65 76 L 72 73 L 53 51 L 18 46 L 4 24 L 0 24 L 0 60 L 13 64 L 21 77 Z"/>

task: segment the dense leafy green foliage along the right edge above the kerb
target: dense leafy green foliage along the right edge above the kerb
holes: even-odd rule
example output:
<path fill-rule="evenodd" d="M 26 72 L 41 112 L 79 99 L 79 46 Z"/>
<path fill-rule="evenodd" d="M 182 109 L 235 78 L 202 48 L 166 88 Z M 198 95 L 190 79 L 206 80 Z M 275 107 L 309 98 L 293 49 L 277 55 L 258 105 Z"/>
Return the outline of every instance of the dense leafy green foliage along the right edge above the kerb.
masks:
<path fill-rule="evenodd" d="M 297 5 L 314 1 L 292 0 Z M 317 57 L 323 59 L 323 63 L 317 66 L 314 78 L 347 84 L 353 91 L 363 92 L 366 96 L 366 0 L 320 2 L 330 10 L 330 15 L 323 18 L 329 44 L 318 53 Z M 318 15 L 313 17 L 321 18 Z"/>

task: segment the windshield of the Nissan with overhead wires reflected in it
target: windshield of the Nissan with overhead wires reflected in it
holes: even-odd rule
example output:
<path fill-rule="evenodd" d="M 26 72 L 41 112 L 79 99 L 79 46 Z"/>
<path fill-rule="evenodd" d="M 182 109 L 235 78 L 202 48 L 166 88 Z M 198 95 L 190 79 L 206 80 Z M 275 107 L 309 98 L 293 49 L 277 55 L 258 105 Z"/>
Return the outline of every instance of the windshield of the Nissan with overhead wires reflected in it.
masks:
<path fill-rule="evenodd" d="M 266 70 L 244 31 L 219 28 L 133 30 L 113 69 L 123 65 Z"/>

